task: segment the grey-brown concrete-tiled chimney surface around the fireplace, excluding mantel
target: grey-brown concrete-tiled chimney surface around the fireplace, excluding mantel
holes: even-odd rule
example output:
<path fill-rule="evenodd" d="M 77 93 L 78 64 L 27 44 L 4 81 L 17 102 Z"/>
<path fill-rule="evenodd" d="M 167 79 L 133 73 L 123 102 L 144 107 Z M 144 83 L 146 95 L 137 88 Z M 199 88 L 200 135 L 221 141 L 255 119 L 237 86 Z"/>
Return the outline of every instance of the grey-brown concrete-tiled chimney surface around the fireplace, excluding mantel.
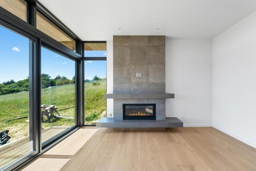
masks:
<path fill-rule="evenodd" d="M 113 36 L 113 43 L 113 93 L 165 93 L 165 36 Z M 165 99 L 114 99 L 116 120 L 123 103 L 156 103 L 156 119 L 165 119 Z"/>

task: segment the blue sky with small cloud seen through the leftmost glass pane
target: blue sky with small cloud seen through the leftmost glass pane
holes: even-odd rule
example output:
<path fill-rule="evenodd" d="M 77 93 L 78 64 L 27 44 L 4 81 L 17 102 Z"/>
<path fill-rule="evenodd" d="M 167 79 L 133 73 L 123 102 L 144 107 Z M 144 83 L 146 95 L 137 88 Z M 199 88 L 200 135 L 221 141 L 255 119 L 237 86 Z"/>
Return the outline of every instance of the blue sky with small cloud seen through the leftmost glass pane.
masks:
<path fill-rule="evenodd" d="M 28 77 L 28 39 L 0 26 L 0 83 Z"/>

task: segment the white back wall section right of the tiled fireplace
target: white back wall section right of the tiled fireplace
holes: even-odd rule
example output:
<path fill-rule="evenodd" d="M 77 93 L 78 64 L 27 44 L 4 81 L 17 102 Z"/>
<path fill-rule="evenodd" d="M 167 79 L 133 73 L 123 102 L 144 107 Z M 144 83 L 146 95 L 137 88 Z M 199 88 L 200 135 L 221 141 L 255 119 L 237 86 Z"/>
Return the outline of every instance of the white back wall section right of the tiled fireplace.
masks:
<path fill-rule="evenodd" d="M 212 40 L 166 37 L 166 117 L 184 126 L 212 126 Z"/>

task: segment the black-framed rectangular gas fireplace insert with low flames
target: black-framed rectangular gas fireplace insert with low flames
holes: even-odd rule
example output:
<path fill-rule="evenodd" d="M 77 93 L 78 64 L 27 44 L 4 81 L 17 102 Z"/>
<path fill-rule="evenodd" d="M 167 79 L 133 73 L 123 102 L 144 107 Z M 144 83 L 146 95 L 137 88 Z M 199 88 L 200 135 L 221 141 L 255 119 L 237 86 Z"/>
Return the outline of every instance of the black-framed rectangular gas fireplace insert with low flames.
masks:
<path fill-rule="evenodd" d="M 124 120 L 155 120 L 156 104 L 123 104 Z"/>

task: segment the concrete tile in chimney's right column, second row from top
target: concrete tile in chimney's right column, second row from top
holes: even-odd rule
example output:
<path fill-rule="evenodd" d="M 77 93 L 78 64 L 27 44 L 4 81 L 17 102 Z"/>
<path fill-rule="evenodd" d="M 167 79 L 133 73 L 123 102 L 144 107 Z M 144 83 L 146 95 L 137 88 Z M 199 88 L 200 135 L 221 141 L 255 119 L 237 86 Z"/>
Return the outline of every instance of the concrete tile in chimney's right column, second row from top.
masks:
<path fill-rule="evenodd" d="M 148 46 L 149 64 L 165 64 L 165 46 Z"/>

